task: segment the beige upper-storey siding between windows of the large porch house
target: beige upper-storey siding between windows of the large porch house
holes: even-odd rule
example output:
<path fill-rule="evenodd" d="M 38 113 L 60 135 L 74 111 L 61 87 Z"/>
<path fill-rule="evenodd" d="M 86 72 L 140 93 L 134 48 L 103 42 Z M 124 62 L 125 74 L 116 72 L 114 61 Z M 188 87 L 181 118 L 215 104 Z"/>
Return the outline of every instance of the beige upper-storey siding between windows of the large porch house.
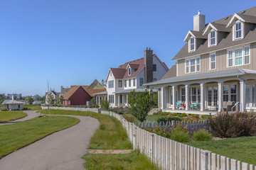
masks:
<path fill-rule="evenodd" d="M 256 70 L 256 42 L 250 45 L 250 64 L 227 67 L 227 50 L 220 50 L 216 54 L 216 69 L 209 70 L 209 54 L 201 55 L 201 72 L 185 74 L 185 60 L 178 60 L 178 76 L 186 76 L 191 74 L 201 74 L 207 72 L 218 72 L 228 69 L 252 69 Z"/>

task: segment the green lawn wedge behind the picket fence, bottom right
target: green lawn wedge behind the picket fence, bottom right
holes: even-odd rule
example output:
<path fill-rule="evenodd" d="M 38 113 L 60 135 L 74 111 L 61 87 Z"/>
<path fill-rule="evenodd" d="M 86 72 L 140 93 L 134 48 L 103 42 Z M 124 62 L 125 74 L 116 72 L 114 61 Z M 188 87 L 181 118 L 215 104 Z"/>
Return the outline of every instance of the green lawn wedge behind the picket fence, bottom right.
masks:
<path fill-rule="evenodd" d="M 208 142 L 188 142 L 186 144 L 256 165 L 256 137 L 238 137 Z"/>

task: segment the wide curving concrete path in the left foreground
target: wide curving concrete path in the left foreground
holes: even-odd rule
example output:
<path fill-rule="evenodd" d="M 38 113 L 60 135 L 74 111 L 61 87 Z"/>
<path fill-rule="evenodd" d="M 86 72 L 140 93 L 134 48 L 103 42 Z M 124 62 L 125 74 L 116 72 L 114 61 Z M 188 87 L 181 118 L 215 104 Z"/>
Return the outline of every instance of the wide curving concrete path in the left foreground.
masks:
<path fill-rule="evenodd" d="M 95 118 L 72 116 L 80 123 L 0 159 L 1 170 L 84 170 L 82 155 L 100 123 Z"/>

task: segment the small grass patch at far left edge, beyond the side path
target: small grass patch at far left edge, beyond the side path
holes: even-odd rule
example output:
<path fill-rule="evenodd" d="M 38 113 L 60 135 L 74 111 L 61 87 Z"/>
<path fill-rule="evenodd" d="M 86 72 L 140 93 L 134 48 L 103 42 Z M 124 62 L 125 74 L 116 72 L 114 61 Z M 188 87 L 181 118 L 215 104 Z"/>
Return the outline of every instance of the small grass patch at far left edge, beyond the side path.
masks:
<path fill-rule="evenodd" d="M 23 111 L 0 111 L 0 123 L 9 122 L 27 116 Z"/>

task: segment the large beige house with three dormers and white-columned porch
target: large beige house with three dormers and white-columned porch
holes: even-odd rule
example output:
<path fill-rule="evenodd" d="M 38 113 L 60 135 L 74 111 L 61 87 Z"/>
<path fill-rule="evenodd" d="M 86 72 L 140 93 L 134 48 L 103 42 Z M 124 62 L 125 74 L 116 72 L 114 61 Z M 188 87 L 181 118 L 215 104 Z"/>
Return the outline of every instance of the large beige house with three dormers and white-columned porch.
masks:
<path fill-rule="evenodd" d="M 207 25 L 199 11 L 184 41 L 176 65 L 146 84 L 161 88 L 163 111 L 256 110 L 256 6 Z"/>

